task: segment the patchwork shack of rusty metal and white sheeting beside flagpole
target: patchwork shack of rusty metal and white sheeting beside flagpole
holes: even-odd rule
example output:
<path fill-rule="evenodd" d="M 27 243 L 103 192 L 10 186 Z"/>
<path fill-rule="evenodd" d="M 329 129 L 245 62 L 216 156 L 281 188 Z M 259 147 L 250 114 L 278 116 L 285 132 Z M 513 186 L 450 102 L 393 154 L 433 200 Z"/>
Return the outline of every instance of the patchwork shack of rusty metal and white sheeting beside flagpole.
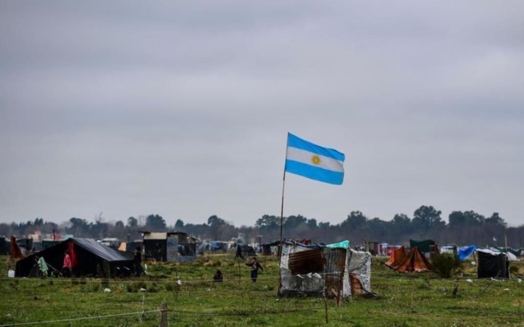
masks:
<path fill-rule="evenodd" d="M 286 242 L 280 260 L 279 296 L 349 297 L 371 291 L 371 254 L 349 242 L 305 245 Z"/>

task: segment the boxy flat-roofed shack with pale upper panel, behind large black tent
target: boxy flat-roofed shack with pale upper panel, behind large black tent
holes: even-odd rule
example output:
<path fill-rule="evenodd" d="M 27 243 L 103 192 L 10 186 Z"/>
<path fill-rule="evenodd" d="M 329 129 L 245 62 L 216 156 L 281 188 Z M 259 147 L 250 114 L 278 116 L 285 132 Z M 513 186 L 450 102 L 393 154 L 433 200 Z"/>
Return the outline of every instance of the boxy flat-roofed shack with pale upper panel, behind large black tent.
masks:
<path fill-rule="evenodd" d="M 183 232 L 141 232 L 144 257 L 161 262 L 190 262 L 196 258 L 198 239 Z"/>

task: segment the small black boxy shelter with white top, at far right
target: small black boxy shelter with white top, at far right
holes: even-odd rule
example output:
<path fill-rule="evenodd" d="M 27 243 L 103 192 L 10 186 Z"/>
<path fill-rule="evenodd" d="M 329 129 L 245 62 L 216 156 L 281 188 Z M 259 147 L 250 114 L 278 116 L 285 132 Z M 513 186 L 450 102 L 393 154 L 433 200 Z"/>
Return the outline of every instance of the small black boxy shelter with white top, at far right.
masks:
<path fill-rule="evenodd" d="M 477 249 L 478 278 L 509 278 L 509 260 L 506 253 Z"/>

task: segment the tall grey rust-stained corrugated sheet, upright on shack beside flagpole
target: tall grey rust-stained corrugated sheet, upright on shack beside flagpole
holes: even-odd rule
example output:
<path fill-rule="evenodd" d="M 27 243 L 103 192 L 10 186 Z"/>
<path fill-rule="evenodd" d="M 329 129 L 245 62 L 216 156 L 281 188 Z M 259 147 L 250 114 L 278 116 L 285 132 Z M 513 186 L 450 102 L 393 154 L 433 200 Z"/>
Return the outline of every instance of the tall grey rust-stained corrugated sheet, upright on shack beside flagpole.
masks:
<path fill-rule="evenodd" d="M 323 249 L 325 287 L 329 297 L 336 297 L 342 291 L 346 253 L 346 249 Z"/>

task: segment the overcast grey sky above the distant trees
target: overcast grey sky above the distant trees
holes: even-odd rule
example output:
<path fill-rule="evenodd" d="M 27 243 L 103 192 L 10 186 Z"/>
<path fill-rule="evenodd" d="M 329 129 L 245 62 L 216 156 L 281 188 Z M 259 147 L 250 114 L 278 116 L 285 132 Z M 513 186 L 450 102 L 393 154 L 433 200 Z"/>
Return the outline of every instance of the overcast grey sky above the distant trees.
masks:
<path fill-rule="evenodd" d="M 285 215 L 524 223 L 522 1 L 2 1 L 0 221 L 279 215 L 287 132 L 346 154 Z"/>

